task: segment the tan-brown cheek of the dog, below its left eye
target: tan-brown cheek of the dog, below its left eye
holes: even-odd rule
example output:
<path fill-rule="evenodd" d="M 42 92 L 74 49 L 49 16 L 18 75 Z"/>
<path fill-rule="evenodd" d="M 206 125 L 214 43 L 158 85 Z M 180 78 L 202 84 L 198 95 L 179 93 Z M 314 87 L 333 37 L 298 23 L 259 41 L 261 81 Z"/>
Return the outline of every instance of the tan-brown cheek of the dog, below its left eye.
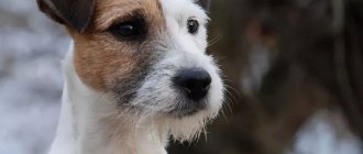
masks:
<path fill-rule="evenodd" d="M 134 63 L 127 45 L 107 36 L 74 34 L 75 68 L 81 81 L 96 90 L 112 90 L 117 78 L 127 77 Z"/>

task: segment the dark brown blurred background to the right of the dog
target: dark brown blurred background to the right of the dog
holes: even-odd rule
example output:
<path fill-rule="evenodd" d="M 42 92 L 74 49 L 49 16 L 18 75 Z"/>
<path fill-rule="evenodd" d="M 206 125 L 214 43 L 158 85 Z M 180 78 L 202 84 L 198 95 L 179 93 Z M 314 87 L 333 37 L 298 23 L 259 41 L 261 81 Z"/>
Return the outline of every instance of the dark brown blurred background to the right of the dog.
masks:
<path fill-rule="evenodd" d="M 210 51 L 231 87 L 227 120 L 207 143 L 175 153 L 362 153 L 362 10 L 359 0 L 213 1 Z M 302 141 L 311 120 L 330 129 Z"/>

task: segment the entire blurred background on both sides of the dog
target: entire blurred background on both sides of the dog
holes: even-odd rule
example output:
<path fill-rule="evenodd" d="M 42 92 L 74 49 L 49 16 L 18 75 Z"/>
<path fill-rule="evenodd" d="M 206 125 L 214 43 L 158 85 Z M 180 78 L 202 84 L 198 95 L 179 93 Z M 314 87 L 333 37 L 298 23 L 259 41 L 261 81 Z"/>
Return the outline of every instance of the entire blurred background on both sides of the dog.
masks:
<path fill-rule="evenodd" d="M 363 1 L 212 0 L 223 113 L 170 154 L 363 154 Z M 35 0 L 0 0 L 0 154 L 45 154 L 69 37 Z"/>

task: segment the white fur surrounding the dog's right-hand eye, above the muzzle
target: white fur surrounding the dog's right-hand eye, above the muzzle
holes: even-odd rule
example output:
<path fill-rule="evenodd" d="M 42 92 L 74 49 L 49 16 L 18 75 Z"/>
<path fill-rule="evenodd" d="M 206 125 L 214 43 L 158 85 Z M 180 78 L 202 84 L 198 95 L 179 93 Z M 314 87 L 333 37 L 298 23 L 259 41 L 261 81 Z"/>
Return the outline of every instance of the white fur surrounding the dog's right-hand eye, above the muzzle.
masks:
<path fill-rule="evenodd" d="M 205 10 L 194 0 L 160 0 L 163 7 L 167 31 L 173 41 L 185 52 L 205 52 L 207 47 L 206 25 L 209 20 Z M 199 30 L 197 34 L 188 33 L 188 20 L 197 20 Z M 195 48 L 197 47 L 197 48 Z"/>

